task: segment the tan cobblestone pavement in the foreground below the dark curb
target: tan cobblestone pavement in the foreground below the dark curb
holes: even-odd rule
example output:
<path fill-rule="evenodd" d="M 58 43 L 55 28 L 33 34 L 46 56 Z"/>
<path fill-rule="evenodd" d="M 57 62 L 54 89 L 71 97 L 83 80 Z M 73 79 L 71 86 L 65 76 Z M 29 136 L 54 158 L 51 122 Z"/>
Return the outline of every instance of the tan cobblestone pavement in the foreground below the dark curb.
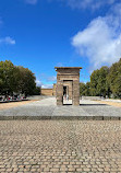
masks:
<path fill-rule="evenodd" d="M 119 120 L 1 120 L 0 173 L 121 173 Z"/>

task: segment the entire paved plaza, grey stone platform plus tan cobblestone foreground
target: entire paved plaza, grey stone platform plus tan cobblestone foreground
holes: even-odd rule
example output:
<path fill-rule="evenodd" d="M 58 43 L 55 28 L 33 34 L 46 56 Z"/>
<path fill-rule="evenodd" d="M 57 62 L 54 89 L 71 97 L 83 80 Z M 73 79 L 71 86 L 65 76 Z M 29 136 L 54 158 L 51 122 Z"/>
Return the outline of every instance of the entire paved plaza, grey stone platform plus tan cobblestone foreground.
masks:
<path fill-rule="evenodd" d="M 0 111 L 8 116 L 68 118 L 0 120 L 0 173 L 121 173 L 121 120 L 99 120 L 120 117 L 120 107 L 96 101 L 57 106 L 46 97 Z M 77 116 L 98 118 L 70 120 Z"/>

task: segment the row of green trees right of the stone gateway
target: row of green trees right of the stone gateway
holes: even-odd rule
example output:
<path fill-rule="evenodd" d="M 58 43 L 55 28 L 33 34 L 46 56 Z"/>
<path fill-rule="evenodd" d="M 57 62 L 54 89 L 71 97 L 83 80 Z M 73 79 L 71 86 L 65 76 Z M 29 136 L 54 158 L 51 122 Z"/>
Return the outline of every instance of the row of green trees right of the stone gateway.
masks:
<path fill-rule="evenodd" d="M 94 70 L 90 82 L 81 83 L 81 95 L 121 99 L 121 59 L 110 68 L 107 66 Z"/>

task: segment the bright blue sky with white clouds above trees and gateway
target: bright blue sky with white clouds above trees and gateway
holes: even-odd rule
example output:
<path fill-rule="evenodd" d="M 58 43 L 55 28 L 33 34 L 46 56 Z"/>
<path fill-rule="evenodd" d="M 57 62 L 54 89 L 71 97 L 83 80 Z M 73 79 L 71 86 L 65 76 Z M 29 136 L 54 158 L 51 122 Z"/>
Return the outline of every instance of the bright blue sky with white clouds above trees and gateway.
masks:
<path fill-rule="evenodd" d="M 83 67 L 81 81 L 121 57 L 121 0 L 1 0 L 0 60 L 29 68 L 37 84 L 56 66 Z"/>

